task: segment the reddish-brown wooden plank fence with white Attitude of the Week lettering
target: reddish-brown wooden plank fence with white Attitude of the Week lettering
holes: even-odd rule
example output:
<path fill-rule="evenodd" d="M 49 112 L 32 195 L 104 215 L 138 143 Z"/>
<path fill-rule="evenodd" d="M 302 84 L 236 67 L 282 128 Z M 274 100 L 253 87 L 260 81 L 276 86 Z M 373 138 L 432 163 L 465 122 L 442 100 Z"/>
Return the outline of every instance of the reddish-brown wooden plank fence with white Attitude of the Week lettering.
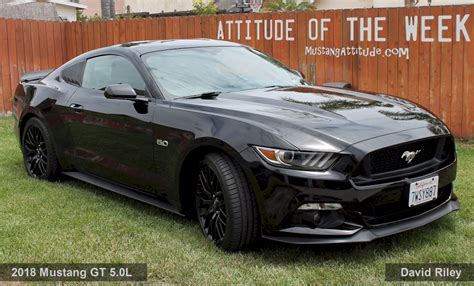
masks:
<path fill-rule="evenodd" d="M 408 41 L 407 21 L 415 16 L 427 28 L 418 27 Z M 58 67 L 112 44 L 178 38 L 247 44 L 312 83 L 346 81 L 407 98 L 440 116 L 457 136 L 474 136 L 474 5 L 86 23 L 0 19 L 0 112 L 11 111 L 13 90 L 25 72 Z M 354 49 L 360 54 L 350 55 Z"/>

